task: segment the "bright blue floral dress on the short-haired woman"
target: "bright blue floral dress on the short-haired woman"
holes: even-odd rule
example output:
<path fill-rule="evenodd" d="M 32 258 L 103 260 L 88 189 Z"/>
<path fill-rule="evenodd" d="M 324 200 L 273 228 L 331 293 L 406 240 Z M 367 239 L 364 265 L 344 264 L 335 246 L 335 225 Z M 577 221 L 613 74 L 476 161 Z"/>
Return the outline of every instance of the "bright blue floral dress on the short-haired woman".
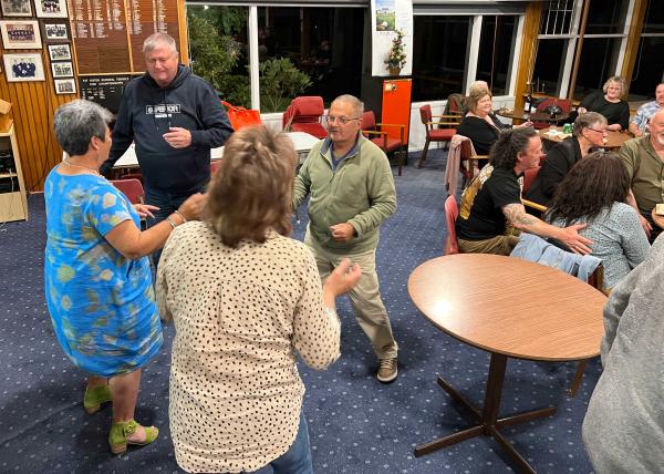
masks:
<path fill-rule="evenodd" d="M 65 176 L 54 168 L 44 185 L 44 281 L 55 336 L 85 372 L 112 377 L 147 363 L 162 347 L 147 257 L 129 260 L 104 236 L 138 214 L 106 179 Z"/>

